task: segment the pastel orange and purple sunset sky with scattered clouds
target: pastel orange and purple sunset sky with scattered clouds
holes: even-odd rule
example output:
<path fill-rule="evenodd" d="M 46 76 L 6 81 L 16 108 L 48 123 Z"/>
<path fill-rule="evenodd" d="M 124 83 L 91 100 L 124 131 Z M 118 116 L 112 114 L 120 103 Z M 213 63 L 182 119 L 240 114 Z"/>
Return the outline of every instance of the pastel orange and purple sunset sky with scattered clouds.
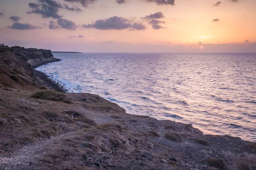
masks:
<path fill-rule="evenodd" d="M 256 0 L 0 0 L 0 43 L 76 52 L 256 52 Z"/>

